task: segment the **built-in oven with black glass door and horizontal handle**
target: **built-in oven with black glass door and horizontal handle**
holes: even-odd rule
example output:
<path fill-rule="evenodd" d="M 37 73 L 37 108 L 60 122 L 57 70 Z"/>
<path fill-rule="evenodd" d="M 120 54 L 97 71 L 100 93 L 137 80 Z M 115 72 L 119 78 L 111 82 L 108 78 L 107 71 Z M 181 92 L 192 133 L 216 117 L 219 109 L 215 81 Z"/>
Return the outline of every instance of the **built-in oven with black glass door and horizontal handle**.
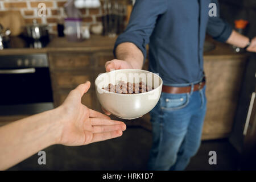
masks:
<path fill-rule="evenodd" d="M 0 115 L 53 109 L 47 54 L 0 56 Z"/>

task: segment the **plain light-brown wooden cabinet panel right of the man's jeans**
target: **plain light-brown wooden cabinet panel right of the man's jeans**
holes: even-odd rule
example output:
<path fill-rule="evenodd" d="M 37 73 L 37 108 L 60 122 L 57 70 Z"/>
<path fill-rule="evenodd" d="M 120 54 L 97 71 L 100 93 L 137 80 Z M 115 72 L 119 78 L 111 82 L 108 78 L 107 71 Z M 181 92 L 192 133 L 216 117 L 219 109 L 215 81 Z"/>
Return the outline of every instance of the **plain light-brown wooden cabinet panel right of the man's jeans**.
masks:
<path fill-rule="evenodd" d="M 247 56 L 205 56 L 207 114 L 203 139 L 228 137 L 232 131 Z"/>

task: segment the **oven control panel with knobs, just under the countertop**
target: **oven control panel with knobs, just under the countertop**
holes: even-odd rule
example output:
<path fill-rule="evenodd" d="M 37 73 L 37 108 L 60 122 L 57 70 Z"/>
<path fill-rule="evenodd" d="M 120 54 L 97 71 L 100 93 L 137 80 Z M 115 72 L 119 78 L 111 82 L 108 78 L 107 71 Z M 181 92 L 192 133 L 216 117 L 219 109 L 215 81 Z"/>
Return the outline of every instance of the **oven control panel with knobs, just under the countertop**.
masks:
<path fill-rule="evenodd" d="M 0 68 L 43 68 L 49 67 L 46 53 L 31 55 L 0 56 Z"/>

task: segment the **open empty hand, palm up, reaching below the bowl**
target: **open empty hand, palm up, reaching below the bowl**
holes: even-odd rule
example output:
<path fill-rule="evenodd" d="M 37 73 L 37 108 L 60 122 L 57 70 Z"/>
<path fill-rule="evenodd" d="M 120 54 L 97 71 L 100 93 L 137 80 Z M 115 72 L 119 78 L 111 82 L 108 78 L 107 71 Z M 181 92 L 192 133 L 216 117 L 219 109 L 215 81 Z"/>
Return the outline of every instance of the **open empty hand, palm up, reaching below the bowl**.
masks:
<path fill-rule="evenodd" d="M 60 106 L 62 127 L 57 143 L 79 146 L 120 137 L 122 131 L 126 130 L 125 123 L 110 120 L 105 114 L 81 104 L 81 97 L 89 88 L 89 81 L 77 86 Z"/>

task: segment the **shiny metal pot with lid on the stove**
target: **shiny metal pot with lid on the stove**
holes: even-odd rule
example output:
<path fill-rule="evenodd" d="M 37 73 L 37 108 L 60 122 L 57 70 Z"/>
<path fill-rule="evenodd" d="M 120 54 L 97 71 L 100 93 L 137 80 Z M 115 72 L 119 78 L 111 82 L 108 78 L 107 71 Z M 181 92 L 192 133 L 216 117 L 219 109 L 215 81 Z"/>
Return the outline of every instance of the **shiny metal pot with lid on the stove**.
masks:
<path fill-rule="evenodd" d="M 33 20 L 33 24 L 26 26 L 27 36 L 34 40 L 39 40 L 42 38 L 48 38 L 48 26 L 44 24 L 39 24 L 36 20 Z"/>

